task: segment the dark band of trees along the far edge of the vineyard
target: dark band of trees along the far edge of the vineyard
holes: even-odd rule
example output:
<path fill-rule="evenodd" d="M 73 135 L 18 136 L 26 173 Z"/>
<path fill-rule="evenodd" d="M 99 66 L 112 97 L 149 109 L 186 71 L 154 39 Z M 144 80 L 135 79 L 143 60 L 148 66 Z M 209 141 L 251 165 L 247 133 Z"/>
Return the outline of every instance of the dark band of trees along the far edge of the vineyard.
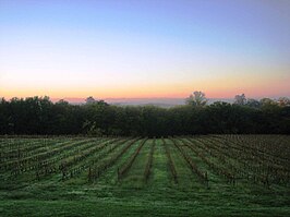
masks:
<path fill-rule="evenodd" d="M 209 133 L 290 134 L 290 100 L 247 99 L 208 105 L 194 92 L 183 106 L 114 106 L 88 97 L 86 104 L 49 97 L 0 99 L 0 134 L 169 136 Z"/>

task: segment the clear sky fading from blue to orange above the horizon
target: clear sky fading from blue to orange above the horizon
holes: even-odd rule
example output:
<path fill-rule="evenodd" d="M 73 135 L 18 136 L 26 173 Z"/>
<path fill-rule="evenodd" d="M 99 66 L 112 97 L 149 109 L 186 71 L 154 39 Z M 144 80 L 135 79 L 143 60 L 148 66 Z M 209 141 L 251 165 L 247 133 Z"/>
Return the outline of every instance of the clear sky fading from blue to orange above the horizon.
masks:
<path fill-rule="evenodd" d="M 289 0 L 0 0 L 0 97 L 290 96 Z"/>

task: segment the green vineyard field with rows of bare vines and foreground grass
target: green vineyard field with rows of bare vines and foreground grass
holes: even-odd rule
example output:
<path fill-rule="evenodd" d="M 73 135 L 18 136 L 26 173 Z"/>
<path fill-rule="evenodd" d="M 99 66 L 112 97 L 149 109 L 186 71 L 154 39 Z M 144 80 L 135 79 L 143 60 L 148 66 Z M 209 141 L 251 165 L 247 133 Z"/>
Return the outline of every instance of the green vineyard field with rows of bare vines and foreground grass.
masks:
<path fill-rule="evenodd" d="M 290 216 L 290 136 L 0 138 L 0 216 Z"/>

